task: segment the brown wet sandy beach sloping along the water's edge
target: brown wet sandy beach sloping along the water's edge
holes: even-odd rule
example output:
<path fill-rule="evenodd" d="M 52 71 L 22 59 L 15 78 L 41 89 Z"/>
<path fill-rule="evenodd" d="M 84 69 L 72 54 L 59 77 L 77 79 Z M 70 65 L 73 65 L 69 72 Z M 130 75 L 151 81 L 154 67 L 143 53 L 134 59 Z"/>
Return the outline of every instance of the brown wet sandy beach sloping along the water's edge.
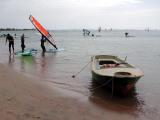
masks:
<path fill-rule="evenodd" d="M 33 80 L 0 64 L 0 116 L 3 120 L 135 119 L 89 102 L 87 96 Z M 96 99 L 94 99 L 96 101 Z M 103 104 L 104 105 L 104 104 Z"/>

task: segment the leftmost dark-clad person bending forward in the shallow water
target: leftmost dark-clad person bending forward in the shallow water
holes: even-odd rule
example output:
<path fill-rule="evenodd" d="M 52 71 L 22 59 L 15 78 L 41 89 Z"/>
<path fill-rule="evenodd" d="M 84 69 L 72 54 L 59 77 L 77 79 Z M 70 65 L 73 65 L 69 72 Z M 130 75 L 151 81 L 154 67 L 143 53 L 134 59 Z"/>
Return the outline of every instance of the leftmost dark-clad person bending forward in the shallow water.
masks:
<path fill-rule="evenodd" d="M 7 34 L 6 43 L 7 43 L 7 41 L 9 42 L 9 53 L 11 54 L 11 47 L 12 47 L 12 50 L 14 53 L 14 38 L 13 38 L 13 36 L 11 36 L 10 34 Z"/>

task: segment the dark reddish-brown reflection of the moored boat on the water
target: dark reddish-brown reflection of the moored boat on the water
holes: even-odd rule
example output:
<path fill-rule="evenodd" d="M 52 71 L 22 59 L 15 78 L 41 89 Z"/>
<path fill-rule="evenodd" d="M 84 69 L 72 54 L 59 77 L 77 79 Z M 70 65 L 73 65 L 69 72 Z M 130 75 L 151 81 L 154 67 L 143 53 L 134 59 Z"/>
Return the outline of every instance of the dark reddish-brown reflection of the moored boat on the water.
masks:
<path fill-rule="evenodd" d="M 129 96 L 113 95 L 111 91 L 105 86 L 100 85 L 94 81 L 90 84 L 90 101 L 94 104 L 114 111 L 122 112 L 130 115 L 138 116 L 142 112 L 142 107 L 145 104 L 144 100 L 138 97 L 136 89 L 132 91 Z"/>

